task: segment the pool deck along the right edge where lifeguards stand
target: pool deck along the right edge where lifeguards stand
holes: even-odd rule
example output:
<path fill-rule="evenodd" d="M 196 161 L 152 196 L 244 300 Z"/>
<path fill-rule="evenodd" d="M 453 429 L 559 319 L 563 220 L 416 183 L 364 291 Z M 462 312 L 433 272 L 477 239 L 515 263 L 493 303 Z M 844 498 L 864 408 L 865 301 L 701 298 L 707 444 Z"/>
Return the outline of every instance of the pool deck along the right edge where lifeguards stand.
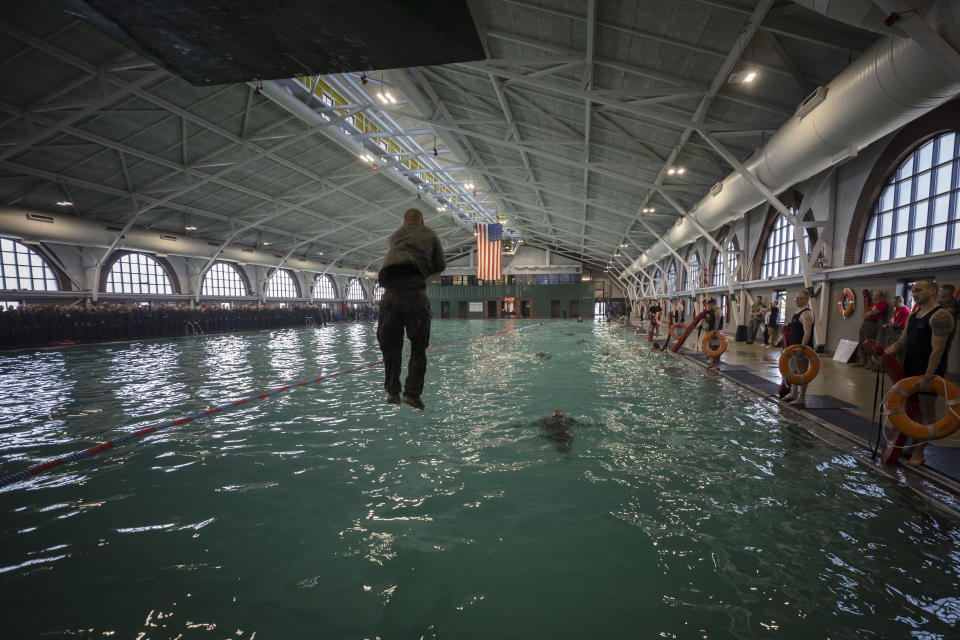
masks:
<path fill-rule="evenodd" d="M 633 330 L 635 327 L 629 327 Z M 663 342 L 661 332 L 659 342 Z M 695 336 L 693 336 L 695 337 Z M 688 338 L 679 355 L 689 362 L 706 369 L 706 356 L 699 350 L 688 348 L 697 342 L 693 337 Z M 640 339 L 646 344 L 646 334 Z M 671 346 L 673 341 L 671 341 Z M 642 348 L 642 347 L 641 347 Z M 750 389 L 761 397 L 774 402 L 784 414 L 799 414 L 808 420 L 826 427 L 833 433 L 859 447 L 858 456 L 871 460 L 874 445 L 877 440 L 877 423 L 873 416 L 874 390 L 878 373 L 863 367 L 854 367 L 846 363 L 835 362 L 829 356 L 820 357 L 820 374 L 807 388 L 806 408 L 795 408 L 783 405 L 778 401 L 777 390 L 780 386 L 780 371 L 777 363 L 781 349 L 767 348 L 762 343 L 729 342 L 729 347 L 721 357 L 721 363 L 716 373 Z M 710 375 L 714 375 L 710 373 Z M 890 384 L 885 375 L 882 376 L 883 390 L 889 390 Z M 880 396 L 878 405 L 882 405 Z M 942 409 L 942 408 L 941 408 Z M 877 413 L 882 410 L 878 406 Z M 877 416 L 879 419 L 879 415 Z M 834 438 L 830 438 L 834 441 Z M 836 444 L 836 442 L 834 442 Z M 881 449 L 882 449 L 881 442 Z M 908 458 L 909 451 L 905 451 L 903 459 Z M 883 465 L 880 456 L 871 460 L 875 465 L 909 481 L 905 476 L 918 474 L 926 481 L 945 489 L 955 499 L 960 498 L 960 432 L 933 442 L 927 447 L 926 462 L 919 468 L 898 463 L 897 465 Z M 906 474 L 904 473 L 906 472 Z M 936 496 L 940 498 L 940 496 Z M 948 501 L 954 503 L 954 500 Z"/>

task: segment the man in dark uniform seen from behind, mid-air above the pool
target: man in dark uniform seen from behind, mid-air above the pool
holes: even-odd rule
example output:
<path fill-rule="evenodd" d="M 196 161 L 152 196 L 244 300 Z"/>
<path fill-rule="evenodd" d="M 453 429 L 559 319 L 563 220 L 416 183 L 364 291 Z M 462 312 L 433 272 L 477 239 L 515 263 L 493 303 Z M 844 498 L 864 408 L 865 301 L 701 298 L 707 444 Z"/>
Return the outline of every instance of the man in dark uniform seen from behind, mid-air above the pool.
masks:
<path fill-rule="evenodd" d="M 393 232 L 377 281 L 384 288 L 380 300 L 377 341 L 386 370 L 387 402 L 400 403 L 400 368 L 403 363 L 403 331 L 410 339 L 410 365 L 403 387 L 403 402 L 423 409 L 420 394 L 427 372 L 430 341 L 430 302 L 427 278 L 447 268 L 440 238 L 423 223 L 419 209 L 403 214 L 403 226 Z"/>

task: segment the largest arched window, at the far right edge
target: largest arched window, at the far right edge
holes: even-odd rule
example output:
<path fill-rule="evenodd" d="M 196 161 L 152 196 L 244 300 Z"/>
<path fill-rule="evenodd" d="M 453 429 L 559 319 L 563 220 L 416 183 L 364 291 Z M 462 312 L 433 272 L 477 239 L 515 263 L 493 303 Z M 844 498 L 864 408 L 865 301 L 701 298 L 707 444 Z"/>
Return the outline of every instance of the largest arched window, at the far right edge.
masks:
<path fill-rule="evenodd" d="M 956 131 L 937 136 L 890 174 L 867 224 L 861 262 L 960 248 L 958 144 Z"/>

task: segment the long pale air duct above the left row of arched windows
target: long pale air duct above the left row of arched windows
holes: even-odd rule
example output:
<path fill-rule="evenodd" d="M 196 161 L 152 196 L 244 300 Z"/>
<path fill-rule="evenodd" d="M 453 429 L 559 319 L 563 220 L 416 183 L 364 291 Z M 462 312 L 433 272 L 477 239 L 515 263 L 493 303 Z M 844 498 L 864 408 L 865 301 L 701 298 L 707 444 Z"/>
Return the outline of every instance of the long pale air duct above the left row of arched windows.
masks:
<path fill-rule="evenodd" d="M 28 242 L 52 242 L 102 249 L 112 246 L 117 234 L 122 230 L 120 226 L 109 223 L 8 207 L 0 207 L 0 229 L 3 229 L 4 235 Z M 209 260 L 217 254 L 220 245 L 220 242 L 202 238 L 133 227 L 123 234 L 123 240 L 116 248 Z M 283 260 L 268 251 L 235 245 L 227 246 L 217 259 L 264 267 L 279 266 Z M 331 268 L 329 265 L 301 258 L 291 258 L 283 267 L 295 271 L 363 275 L 355 269 Z"/>

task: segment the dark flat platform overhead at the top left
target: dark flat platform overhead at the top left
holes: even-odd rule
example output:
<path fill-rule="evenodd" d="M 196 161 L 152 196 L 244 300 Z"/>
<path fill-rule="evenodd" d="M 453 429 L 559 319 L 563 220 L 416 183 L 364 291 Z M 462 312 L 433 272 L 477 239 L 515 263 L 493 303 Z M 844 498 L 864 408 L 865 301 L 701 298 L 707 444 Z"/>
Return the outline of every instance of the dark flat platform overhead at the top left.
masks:
<path fill-rule="evenodd" d="M 55 0 L 194 85 L 485 58 L 464 0 Z"/>

